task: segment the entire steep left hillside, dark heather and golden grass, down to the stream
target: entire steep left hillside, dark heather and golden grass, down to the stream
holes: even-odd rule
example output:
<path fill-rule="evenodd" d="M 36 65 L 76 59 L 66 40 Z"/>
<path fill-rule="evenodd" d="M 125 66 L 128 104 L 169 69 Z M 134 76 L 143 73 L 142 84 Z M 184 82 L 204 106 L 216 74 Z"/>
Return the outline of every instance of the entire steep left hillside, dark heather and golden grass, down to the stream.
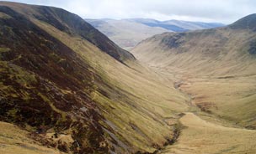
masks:
<path fill-rule="evenodd" d="M 154 152 L 189 109 L 172 81 L 61 8 L 0 2 L 0 36 L 0 120 L 23 131 L 1 129 L 0 153 Z"/>

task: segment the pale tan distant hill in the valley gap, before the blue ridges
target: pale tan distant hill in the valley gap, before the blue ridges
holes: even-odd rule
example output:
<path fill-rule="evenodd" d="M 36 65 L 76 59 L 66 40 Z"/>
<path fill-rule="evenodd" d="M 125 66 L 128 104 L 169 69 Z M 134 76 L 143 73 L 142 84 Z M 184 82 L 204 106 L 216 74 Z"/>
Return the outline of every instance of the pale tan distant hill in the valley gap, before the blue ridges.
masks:
<path fill-rule="evenodd" d="M 166 28 L 151 27 L 130 20 L 85 19 L 94 28 L 107 35 L 123 49 L 131 49 L 145 38 L 158 33 L 172 32 Z"/>

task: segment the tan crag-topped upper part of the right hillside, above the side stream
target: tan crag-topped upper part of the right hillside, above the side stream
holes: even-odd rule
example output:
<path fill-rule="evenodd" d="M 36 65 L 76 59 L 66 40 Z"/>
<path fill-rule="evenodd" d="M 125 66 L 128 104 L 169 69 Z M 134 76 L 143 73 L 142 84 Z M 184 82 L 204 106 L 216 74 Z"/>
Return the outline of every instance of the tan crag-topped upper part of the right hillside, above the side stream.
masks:
<path fill-rule="evenodd" d="M 131 52 L 147 64 L 196 74 L 255 74 L 255 55 L 249 52 L 255 40 L 249 29 L 230 27 L 163 33 L 142 41 Z"/>

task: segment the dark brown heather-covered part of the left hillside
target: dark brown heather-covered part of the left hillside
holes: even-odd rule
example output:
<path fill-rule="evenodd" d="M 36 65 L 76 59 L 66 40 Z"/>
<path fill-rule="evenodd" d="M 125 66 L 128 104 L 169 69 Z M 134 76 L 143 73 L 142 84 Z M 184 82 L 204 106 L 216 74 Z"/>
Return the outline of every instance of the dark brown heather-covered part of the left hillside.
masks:
<path fill-rule="evenodd" d="M 99 126 L 103 117 L 89 97 L 94 74 L 88 64 L 28 18 L 8 7 L 0 9 L 9 15 L 0 18 L 1 121 L 31 132 L 65 133 L 82 145 L 33 136 L 45 146 L 58 143 L 61 151 L 108 151 L 95 143 L 104 141 Z"/>

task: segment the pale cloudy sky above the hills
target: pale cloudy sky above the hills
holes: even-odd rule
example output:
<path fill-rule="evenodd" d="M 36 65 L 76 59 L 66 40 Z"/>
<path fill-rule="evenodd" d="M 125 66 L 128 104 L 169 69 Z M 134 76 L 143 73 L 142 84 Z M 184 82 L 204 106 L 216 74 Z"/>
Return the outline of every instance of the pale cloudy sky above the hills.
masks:
<path fill-rule="evenodd" d="M 13 0 L 64 8 L 82 18 L 154 18 L 233 23 L 256 13 L 256 0 Z"/>

